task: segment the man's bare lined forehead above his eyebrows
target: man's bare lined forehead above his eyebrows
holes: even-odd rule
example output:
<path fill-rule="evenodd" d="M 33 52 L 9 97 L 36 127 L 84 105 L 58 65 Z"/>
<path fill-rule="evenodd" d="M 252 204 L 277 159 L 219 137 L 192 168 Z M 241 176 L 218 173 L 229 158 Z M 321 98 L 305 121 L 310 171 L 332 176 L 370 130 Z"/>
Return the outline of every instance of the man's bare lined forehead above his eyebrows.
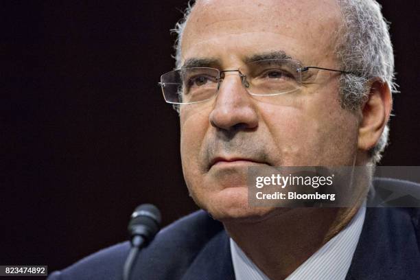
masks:
<path fill-rule="evenodd" d="M 185 26 L 181 59 L 284 51 L 316 62 L 332 56 L 339 24 L 335 0 L 199 0 Z"/>

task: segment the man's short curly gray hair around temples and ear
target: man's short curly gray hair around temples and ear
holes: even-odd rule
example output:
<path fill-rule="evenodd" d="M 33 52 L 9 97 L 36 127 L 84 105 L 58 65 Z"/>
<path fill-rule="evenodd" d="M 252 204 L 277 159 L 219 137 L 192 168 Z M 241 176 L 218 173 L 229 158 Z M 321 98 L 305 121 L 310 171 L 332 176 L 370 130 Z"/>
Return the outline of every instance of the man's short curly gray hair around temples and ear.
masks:
<path fill-rule="evenodd" d="M 380 77 L 387 82 L 393 93 L 397 92 L 394 80 L 393 45 L 388 32 L 388 22 L 381 13 L 381 6 L 375 0 L 337 0 L 342 14 L 342 24 L 337 30 L 336 56 L 342 69 L 357 75 L 341 75 L 340 103 L 342 108 L 358 110 L 366 102 L 369 89 L 366 82 Z M 177 34 L 174 49 L 176 68 L 180 67 L 181 41 L 189 14 L 194 4 L 189 1 L 183 19 L 171 30 Z M 371 163 L 376 164 L 382 157 L 388 143 L 388 125 L 369 150 Z"/>

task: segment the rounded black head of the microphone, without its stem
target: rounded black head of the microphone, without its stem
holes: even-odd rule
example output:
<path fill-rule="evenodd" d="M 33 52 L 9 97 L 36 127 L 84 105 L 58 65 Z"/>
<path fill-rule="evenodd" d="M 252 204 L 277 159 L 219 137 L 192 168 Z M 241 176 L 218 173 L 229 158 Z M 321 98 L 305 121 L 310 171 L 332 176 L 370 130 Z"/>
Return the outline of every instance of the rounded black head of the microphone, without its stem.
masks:
<path fill-rule="evenodd" d="M 131 215 L 128 224 L 130 237 L 141 235 L 145 242 L 150 242 L 158 233 L 161 224 L 161 212 L 151 204 L 140 205 Z"/>

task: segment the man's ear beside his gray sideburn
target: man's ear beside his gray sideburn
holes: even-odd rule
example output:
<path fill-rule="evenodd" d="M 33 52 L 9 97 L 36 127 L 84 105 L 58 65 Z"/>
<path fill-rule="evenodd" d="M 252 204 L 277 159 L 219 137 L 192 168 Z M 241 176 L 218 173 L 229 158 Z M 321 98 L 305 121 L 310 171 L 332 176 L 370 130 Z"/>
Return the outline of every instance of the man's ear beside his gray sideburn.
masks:
<path fill-rule="evenodd" d="M 369 82 L 369 96 L 362 108 L 358 148 L 368 151 L 375 146 L 390 116 L 393 99 L 387 82 L 380 78 Z"/>

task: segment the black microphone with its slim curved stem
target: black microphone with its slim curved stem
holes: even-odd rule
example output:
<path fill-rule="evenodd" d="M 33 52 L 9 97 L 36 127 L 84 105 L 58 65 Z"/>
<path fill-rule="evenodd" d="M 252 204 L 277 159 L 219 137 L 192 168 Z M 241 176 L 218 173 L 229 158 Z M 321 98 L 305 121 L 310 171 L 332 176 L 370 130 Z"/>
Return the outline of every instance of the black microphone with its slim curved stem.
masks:
<path fill-rule="evenodd" d="M 132 264 L 139 253 L 139 250 L 147 246 L 158 233 L 161 224 L 161 212 L 151 204 L 140 205 L 131 215 L 128 224 L 131 249 L 124 264 L 123 279 L 130 279 Z"/>

